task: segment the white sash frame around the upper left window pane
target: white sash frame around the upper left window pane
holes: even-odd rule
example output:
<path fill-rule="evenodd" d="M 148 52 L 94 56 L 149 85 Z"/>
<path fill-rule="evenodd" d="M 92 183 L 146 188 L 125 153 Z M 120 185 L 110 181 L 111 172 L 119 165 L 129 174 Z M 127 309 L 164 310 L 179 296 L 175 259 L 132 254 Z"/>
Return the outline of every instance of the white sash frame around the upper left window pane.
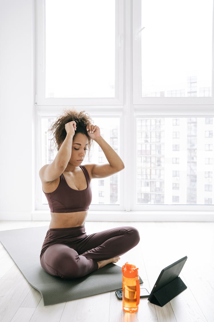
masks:
<path fill-rule="evenodd" d="M 124 2 L 115 1 L 115 97 L 114 98 L 46 98 L 45 97 L 45 0 L 36 0 L 37 15 L 37 105 L 123 105 L 124 70 Z"/>

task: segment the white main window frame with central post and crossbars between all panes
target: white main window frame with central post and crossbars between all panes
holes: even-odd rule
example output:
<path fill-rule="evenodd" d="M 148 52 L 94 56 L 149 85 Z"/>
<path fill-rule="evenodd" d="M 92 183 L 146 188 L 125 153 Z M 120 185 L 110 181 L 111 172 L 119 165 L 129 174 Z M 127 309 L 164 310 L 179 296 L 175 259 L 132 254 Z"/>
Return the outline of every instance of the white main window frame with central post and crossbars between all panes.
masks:
<path fill-rule="evenodd" d="M 115 103 L 110 99 L 44 99 L 44 95 L 39 94 L 37 97 L 35 109 L 37 115 L 36 124 L 36 151 L 38 160 L 35 166 L 35 177 L 39 173 L 40 158 L 40 119 L 41 117 L 55 117 L 62 113 L 64 108 L 75 106 L 77 110 L 86 110 L 91 117 L 120 117 L 120 156 L 124 161 L 125 169 L 120 173 L 120 202 L 121 205 L 97 205 L 91 206 L 88 220 L 98 221 L 209 221 L 214 220 L 214 205 L 138 205 L 137 202 L 137 131 L 136 119 L 139 118 L 158 118 L 158 117 L 214 117 L 214 101 L 210 98 L 141 98 L 136 93 L 139 92 L 137 76 L 141 66 L 140 51 L 141 44 L 136 41 L 135 34 L 138 32 L 140 25 L 135 19 L 136 11 L 139 10 L 140 0 L 127 0 L 124 2 L 118 0 L 118 8 L 120 21 L 124 30 L 120 30 L 118 34 L 121 40 L 121 52 L 124 57 L 120 58 L 121 65 L 118 69 L 118 83 L 124 86 L 121 90 L 119 101 Z M 44 1 L 36 0 L 37 15 L 41 11 Z M 138 9 L 137 9 L 138 8 Z M 139 10 L 140 12 L 140 10 Z M 123 17 L 124 15 L 124 17 Z M 134 18 L 133 18 L 134 17 Z M 36 93 L 42 93 L 41 88 L 44 87 L 44 77 L 42 78 L 41 69 L 44 68 L 43 53 L 41 51 L 43 21 L 37 20 L 37 36 L 38 36 L 38 52 L 37 52 L 37 89 Z M 132 29 L 133 24 L 133 29 Z M 44 51 L 43 51 L 44 52 Z M 120 52 L 120 53 L 121 53 Z M 119 56 L 118 56 L 119 57 Z M 138 68 L 136 68 L 138 66 Z M 120 74 L 121 72 L 121 74 Z M 44 76 L 44 75 L 43 75 Z M 140 75 L 141 77 L 141 75 Z M 141 78 L 138 78 L 138 80 Z M 212 82 L 213 84 L 214 82 Z M 141 84 L 141 82 L 140 82 Z M 141 91 L 141 88 L 140 88 Z M 214 91 L 212 90 L 214 93 Z M 43 91 L 44 94 L 44 91 Z M 209 102 L 209 103 L 208 103 Z M 210 105 L 209 105 L 210 104 Z M 128 147 L 128 148 L 127 148 Z M 36 180 L 38 182 L 38 179 Z M 40 184 L 40 183 L 39 183 Z M 36 190 L 39 193 L 39 184 Z M 42 190 L 40 189 L 40 194 Z M 41 199 L 40 199 L 41 200 Z M 35 220 L 49 220 L 50 211 L 48 206 L 41 207 L 39 195 L 36 197 L 36 211 L 33 212 Z M 113 211 L 112 211 L 113 210 Z M 46 214 L 44 216 L 44 213 Z"/>

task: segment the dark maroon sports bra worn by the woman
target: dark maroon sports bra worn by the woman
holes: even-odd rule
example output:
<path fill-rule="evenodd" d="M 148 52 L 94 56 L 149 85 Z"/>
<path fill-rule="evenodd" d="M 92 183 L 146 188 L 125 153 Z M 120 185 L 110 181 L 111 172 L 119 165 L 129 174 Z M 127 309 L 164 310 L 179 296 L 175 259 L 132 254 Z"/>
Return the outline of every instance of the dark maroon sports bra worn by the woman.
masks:
<path fill-rule="evenodd" d="M 86 211 L 89 209 L 92 194 L 90 188 L 89 173 L 84 166 L 80 166 L 86 181 L 87 188 L 84 190 L 75 190 L 69 187 L 64 175 L 60 175 L 59 185 L 53 192 L 46 193 L 50 211 L 52 213 L 74 213 L 77 211 Z M 43 190 L 43 189 L 42 189 Z"/>

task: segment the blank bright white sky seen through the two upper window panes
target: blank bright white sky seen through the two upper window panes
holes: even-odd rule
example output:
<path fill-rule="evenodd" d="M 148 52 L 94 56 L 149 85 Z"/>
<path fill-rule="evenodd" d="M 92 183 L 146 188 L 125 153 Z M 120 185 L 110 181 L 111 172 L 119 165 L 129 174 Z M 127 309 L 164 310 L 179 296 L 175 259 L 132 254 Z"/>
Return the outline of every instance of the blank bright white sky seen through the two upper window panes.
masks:
<path fill-rule="evenodd" d="M 142 0 L 143 92 L 211 87 L 212 0 Z M 115 96 L 115 0 L 46 0 L 47 97 Z M 53 93 L 53 94 L 51 94 Z"/>

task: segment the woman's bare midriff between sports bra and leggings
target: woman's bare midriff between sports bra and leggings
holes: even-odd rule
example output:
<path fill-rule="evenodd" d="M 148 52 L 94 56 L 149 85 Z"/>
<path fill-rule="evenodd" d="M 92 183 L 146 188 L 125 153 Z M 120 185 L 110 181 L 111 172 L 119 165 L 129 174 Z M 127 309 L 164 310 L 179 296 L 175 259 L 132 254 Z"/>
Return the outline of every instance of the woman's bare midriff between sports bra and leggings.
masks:
<path fill-rule="evenodd" d="M 72 228 L 85 224 L 88 211 L 78 211 L 76 213 L 51 213 L 49 229 Z"/>

